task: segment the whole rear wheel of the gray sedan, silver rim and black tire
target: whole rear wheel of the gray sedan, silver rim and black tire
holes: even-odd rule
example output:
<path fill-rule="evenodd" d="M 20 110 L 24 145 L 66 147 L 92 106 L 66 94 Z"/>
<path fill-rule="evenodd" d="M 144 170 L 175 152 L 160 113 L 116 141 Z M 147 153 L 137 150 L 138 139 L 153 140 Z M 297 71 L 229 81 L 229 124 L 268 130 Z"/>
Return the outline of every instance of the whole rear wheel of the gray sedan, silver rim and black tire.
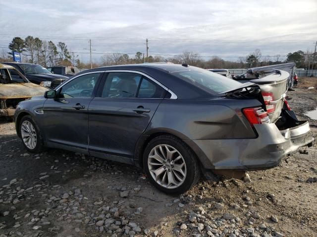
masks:
<path fill-rule="evenodd" d="M 161 135 L 149 142 L 143 154 L 143 167 L 150 182 L 171 195 L 186 192 L 201 175 L 195 154 L 171 135 Z"/>

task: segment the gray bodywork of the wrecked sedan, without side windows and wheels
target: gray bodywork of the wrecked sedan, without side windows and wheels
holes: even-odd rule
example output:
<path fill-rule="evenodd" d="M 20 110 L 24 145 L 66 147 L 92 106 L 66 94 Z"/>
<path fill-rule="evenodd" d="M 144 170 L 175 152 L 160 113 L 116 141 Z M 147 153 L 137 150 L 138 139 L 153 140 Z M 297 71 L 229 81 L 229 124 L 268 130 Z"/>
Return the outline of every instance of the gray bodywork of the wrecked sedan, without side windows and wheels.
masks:
<path fill-rule="evenodd" d="M 167 93 L 164 98 L 102 98 L 102 90 L 96 88 L 96 94 L 89 98 L 58 97 L 58 91 L 63 86 L 83 74 L 105 73 L 100 80 L 106 82 L 107 75 L 114 71 L 142 74 L 164 86 Z M 221 87 L 223 90 L 218 93 L 211 92 L 197 81 L 193 83 L 188 77 L 176 77 L 177 72 L 198 72 L 203 76 L 208 74 L 212 77 L 212 85 L 220 84 L 218 79 L 222 79 L 221 83 L 228 81 L 230 86 Z M 15 112 L 17 134 L 21 118 L 28 114 L 39 129 L 44 131 L 43 142 L 47 147 L 142 166 L 144 149 L 151 139 L 168 134 L 186 143 L 199 159 L 202 168 L 267 169 L 278 165 L 282 158 L 295 153 L 299 147 L 314 141 L 308 122 L 298 121 L 295 115 L 287 116 L 292 115 L 291 111 L 285 112 L 285 115 L 279 111 L 278 116 L 285 116 L 285 121 L 279 121 L 281 125 L 273 122 L 251 123 L 243 113 L 245 108 L 258 109 L 265 106 L 261 82 L 265 85 L 274 80 L 268 83 L 272 86 L 268 89 L 276 89 L 274 95 L 282 96 L 286 85 L 273 88 L 273 84 L 284 83 L 286 74 L 277 73 L 262 81 L 241 84 L 186 64 L 96 68 L 61 84 L 54 98 L 35 97 L 21 102 Z M 103 85 L 99 86 L 103 88 Z M 245 89 L 250 87 L 252 90 Z M 244 93 L 243 89 L 248 93 Z M 173 93 L 167 96 L 168 92 Z M 284 102 L 284 98 L 281 101 Z M 77 103 L 87 106 L 76 110 L 73 106 Z M 136 108 L 147 111 L 139 114 Z M 53 109 L 56 112 L 52 113 Z M 45 132 L 49 129 L 53 131 L 53 136 Z M 57 139 L 56 134 L 59 136 Z M 65 137 L 67 141 L 62 140 Z M 98 141 L 98 144 L 93 144 L 94 141 Z"/>

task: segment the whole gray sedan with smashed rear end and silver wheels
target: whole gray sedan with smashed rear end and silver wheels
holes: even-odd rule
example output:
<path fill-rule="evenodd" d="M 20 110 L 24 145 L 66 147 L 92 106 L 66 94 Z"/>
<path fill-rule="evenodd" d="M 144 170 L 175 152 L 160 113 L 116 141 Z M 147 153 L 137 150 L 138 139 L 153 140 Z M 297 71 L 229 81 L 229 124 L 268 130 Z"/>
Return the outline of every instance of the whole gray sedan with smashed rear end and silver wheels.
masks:
<path fill-rule="evenodd" d="M 180 194 L 201 173 L 271 168 L 312 144 L 308 122 L 285 100 L 288 76 L 275 72 L 265 86 L 186 64 L 96 68 L 21 102 L 16 131 L 29 152 L 134 164 L 161 191 Z"/>

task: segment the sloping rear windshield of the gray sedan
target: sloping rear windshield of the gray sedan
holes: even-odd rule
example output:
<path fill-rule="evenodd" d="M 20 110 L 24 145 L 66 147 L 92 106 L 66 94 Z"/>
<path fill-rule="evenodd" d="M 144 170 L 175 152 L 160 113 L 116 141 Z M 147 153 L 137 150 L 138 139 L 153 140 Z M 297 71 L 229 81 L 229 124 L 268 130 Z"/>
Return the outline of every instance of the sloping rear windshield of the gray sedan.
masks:
<path fill-rule="evenodd" d="M 241 85 L 241 83 L 238 81 L 200 68 L 173 72 L 172 75 L 216 94 L 236 88 Z"/>

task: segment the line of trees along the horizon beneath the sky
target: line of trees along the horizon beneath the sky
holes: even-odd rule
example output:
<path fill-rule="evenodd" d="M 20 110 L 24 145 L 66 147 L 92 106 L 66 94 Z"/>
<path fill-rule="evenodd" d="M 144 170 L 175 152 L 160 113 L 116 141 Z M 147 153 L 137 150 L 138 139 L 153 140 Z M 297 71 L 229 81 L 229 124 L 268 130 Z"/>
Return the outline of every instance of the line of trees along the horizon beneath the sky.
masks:
<path fill-rule="evenodd" d="M 19 52 L 24 55 L 24 62 L 37 63 L 44 67 L 49 66 L 76 66 L 78 68 L 90 68 L 90 63 L 83 63 L 79 60 L 78 55 L 69 52 L 67 45 L 59 41 L 56 45 L 52 40 L 41 40 L 38 37 L 26 37 L 24 40 L 20 37 L 14 37 L 9 43 L 8 48 L 11 51 Z M 12 52 L 8 52 L 12 55 Z M 201 68 L 252 68 L 268 65 L 275 65 L 281 63 L 294 62 L 297 68 L 317 69 L 317 63 L 313 52 L 305 52 L 298 50 L 293 53 L 288 53 L 285 57 L 277 54 L 273 57 L 263 56 L 260 49 L 255 49 L 254 52 L 249 53 L 246 57 L 239 57 L 236 61 L 224 60 L 220 57 L 214 56 L 210 59 L 205 59 L 198 52 L 184 51 L 182 54 L 172 57 L 163 57 L 160 55 L 150 55 L 148 59 L 142 52 L 130 57 L 128 54 L 111 53 L 103 55 L 99 62 L 94 62 L 93 67 L 122 65 L 122 64 L 136 64 L 144 62 L 172 62 L 177 64 L 186 63 L 188 65 L 197 66 Z M 284 59 L 284 60 L 283 60 Z M 1 61 L 12 60 L 10 57 L 2 53 Z M 317 60 L 317 58 L 316 58 Z M 315 61 L 316 61 L 315 60 Z"/>

